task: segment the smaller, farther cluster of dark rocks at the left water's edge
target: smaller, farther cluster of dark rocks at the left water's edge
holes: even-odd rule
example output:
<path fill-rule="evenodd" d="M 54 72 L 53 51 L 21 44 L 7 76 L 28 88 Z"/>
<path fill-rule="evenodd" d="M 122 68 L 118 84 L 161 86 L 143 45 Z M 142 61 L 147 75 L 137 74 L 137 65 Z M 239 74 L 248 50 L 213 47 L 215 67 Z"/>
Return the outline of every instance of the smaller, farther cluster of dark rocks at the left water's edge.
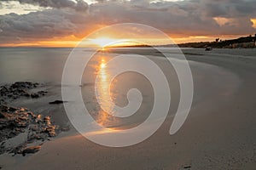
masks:
<path fill-rule="evenodd" d="M 20 97 L 39 98 L 47 94 L 46 91 L 31 92 L 33 88 L 38 88 L 39 83 L 35 82 L 15 82 L 0 87 L 0 104 L 5 100 L 18 99 Z"/>

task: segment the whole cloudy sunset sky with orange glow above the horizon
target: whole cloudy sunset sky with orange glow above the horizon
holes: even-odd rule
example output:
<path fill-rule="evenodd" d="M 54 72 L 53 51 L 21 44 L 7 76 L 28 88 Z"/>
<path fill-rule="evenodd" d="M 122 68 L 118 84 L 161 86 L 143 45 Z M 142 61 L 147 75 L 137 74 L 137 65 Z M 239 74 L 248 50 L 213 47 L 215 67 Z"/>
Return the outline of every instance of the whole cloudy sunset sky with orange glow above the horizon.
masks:
<path fill-rule="evenodd" d="M 0 0 L 0 46 L 73 47 L 119 23 L 153 26 L 177 43 L 254 35 L 256 0 Z"/>

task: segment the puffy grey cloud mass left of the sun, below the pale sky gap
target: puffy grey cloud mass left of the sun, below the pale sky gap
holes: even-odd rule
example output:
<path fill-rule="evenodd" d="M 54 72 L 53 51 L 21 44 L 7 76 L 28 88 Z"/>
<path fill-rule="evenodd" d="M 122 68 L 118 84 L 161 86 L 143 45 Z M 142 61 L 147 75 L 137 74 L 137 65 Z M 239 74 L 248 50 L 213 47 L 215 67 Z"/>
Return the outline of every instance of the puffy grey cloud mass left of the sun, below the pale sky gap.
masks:
<path fill-rule="evenodd" d="M 54 16 L 54 17 L 53 17 Z M 78 25 L 68 18 L 68 12 L 50 9 L 30 14 L 6 14 L 0 17 L 1 42 L 49 39 L 74 34 Z"/>

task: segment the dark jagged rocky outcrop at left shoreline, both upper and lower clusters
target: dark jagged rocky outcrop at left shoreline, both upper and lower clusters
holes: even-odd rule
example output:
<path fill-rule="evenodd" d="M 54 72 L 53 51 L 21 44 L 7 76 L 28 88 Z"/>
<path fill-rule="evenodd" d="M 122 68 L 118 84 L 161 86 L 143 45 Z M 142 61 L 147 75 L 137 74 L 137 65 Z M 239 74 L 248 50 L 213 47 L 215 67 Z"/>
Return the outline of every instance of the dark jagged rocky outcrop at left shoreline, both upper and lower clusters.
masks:
<path fill-rule="evenodd" d="M 54 138 L 61 128 L 50 116 L 33 113 L 26 108 L 9 106 L 17 99 L 37 99 L 47 94 L 45 87 L 33 82 L 15 82 L 0 87 L 0 154 L 14 155 L 38 152 L 44 141 Z M 20 140 L 22 135 L 22 140 Z M 35 145 L 36 144 L 36 145 Z"/>

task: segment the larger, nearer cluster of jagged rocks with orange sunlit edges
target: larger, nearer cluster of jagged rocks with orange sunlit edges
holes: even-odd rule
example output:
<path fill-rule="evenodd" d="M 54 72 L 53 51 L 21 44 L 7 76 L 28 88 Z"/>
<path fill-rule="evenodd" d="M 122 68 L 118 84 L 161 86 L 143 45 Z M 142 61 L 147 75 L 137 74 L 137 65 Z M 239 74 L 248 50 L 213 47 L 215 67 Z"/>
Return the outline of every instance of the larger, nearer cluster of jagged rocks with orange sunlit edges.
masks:
<path fill-rule="evenodd" d="M 26 108 L 15 108 L 7 105 L 0 105 L 0 155 L 5 152 L 26 155 L 35 153 L 39 149 L 26 148 L 27 144 L 55 137 L 61 132 L 59 126 L 51 122 L 50 116 L 35 115 Z M 14 139 L 20 133 L 26 133 L 25 142 L 9 148 L 9 139 Z"/>

